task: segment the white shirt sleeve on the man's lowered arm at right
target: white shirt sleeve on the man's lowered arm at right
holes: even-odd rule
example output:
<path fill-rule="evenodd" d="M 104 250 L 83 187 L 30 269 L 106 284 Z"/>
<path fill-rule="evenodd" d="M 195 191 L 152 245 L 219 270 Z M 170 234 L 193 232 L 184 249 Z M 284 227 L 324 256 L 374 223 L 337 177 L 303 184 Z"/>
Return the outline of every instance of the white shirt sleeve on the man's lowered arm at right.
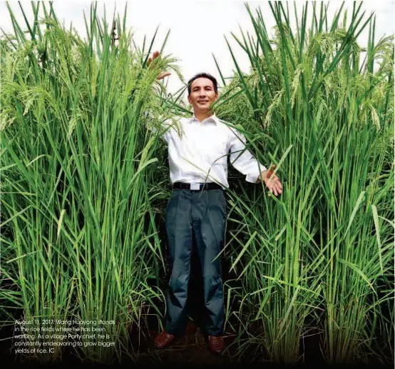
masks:
<path fill-rule="evenodd" d="M 235 129 L 230 131 L 230 163 L 237 171 L 245 174 L 245 181 L 256 183 L 260 173 L 267 171 L 267 168 L 257 161 L 249 150 L 245 150 L 245 143 L 247 142 L 245 136 Z M 243 150 L 245 151 L 242 152 Z"/>

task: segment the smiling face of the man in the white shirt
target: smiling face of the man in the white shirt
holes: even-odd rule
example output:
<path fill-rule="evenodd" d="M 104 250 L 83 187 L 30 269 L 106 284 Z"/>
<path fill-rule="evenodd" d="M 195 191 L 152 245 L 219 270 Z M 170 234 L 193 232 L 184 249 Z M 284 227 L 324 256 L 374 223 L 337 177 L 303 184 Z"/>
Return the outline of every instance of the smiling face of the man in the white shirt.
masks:
<path fill-rule="evenodd" d="M 210 106 L 218 98 L 218 93 L 214 91 L 214 84 L 210 79 L 200 77 L 193 81 L 190 86 L 190 96 L 188 96 L 189 103 L 193 106 L 193 111 L 207 112 Z"/>

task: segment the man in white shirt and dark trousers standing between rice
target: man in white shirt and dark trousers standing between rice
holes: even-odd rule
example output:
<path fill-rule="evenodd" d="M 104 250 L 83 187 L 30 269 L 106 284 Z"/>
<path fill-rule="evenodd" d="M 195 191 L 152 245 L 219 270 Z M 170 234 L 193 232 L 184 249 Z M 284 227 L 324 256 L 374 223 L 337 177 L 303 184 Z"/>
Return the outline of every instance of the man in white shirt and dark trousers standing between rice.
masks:
<path fill-rule="evenodd" d="M 155 51 L 148 65 L 159 56 Z M 163 79 L 170 72 L 157 78 Z M 203 275 L 206 308 L 206 334 L 212 353 L 225 349 L 222 338 L 225 312 L 221 278 L 220 253 L 225 238 L 227 154 L 246 181 L 264 181 L 275 196 L 282 193 L 277 176 L 258 166 L 245 148 L 245 137 L 226 126 L 211 111 L 218 98 L 217 81 L 210 74 L 198 74 L 188 81 L 188 101 L 193 118 L 180 118 L 184 136 L 170 128 L 165 134 L 168 143 L 170 180 L 173 193 L 166 209 L 166 230 L 172 273 L 166 292 L 165 330 L 155 338 L 156 348 L 165 348 L 183 332 L 187 319 L 188 281 L 193 238 Z M 262 173 L 260 173 L 260 169 Z M 270 181 L 271 178 L 271 181 Z M 214 260 L 215 259 L 215 260 Z M 213 261 L 214 260 L 214 261 Z"/>

